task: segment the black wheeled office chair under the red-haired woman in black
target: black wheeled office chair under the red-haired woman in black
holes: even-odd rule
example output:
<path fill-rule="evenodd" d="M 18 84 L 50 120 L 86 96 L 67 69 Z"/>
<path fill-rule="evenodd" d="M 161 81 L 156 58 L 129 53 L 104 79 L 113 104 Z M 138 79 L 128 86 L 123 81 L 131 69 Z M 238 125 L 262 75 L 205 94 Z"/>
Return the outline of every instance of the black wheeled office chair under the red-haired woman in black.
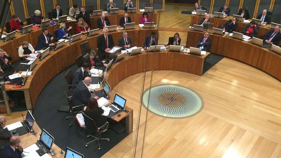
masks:
<path fill-rule="evenodd" d="M 88 147 L 88 144 L 90 144 L 90 143 L 92 143 L 92 142 L 98 142 L 98 150 L 100 150 L 100 140 L 106 140 L 107 142 L 109 142 L 110 141 L 110 139 L 108 139 L 108 138 L 98 138 L 98 136 L 100 135 L 100 134 L 102 134 L 103 132 L 105 132 L 105 131 L 107 131 L 107 128 L 108 128 L 108 122 L 106 122 L 104 125 L 102 125 L 101 127 L 97 127 L 96 126 L 96 123 L 95 123 L 95 121 L 93 120 L 93 119 L 91 119 L 90 117 L 88 117 L 85 113 L 83 113 L 82 112 L 82 115 L 83 115 L 83 117 L 84 117 L 84 122 L 85 122 L 85 125 L 86 125 L 86 127 L 88 127 L 91 131 L 92 131 L 92 133 L 94 133 L 95 134 L 95 136 L 92 136 L 91 135 L 91 133 L 90 134 L 88 134 L 88 138 L 89 137 L 92 137 L 92 138 L 94 138 L 94 140 L 92 140 L 92 141 L 90 141 L 90 142 L 88 142 L 87 144 L 86 144 L 86 148 Z"/>

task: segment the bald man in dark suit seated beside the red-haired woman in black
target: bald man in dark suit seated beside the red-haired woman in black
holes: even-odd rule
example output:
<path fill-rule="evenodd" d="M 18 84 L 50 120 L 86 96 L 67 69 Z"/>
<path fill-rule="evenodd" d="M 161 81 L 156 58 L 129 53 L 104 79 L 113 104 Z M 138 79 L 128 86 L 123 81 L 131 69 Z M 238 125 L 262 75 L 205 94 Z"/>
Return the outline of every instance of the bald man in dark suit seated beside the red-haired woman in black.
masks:
<path fill-rule="evenodd" d="M 96 92 L 96 90 L 88 89 L 88 86 L 91 83 L 92 83 L 91 77 L 86 77 L 83 82 L 78 83 L 71 98 L 71 103 L 73 106 L 78 106 L 82 104 L 87 106 L 88 101 L 91 98 L 91 92 Z M 98 99 L 97 96 L 94 98 Z M 82 111 L 83 107 L 79 107 L 79 109 L 75 109 L 75 110 Z"/>

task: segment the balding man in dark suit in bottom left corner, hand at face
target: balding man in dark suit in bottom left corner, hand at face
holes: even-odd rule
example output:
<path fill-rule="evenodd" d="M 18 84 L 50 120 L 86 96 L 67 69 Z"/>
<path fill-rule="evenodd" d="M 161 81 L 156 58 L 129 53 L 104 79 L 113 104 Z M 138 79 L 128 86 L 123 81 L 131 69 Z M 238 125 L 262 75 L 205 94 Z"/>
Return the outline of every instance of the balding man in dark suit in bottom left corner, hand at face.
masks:
<path fill-rule="evenodd" d="M 12 136 L 9 143 L 4 145 L 0 158 L 22 158 L 22 145 L 19 136 Z"/>

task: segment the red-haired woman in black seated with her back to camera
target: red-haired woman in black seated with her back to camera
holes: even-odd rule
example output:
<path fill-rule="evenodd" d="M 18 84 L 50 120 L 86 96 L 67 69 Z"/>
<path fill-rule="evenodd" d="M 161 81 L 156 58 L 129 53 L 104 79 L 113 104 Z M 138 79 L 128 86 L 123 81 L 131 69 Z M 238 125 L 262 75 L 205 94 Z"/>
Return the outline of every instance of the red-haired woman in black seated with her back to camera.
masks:
<path fill-rule="evenodd" d="M 96 97 L 90 98 L 90 100 L 88 102 L 88 106 L 84 107 L 84 114 L 94 120 L 97 128 L 101 127 L 102 125 L 104 125 L 107 122 L 106 116 L 101 115 L 101 114 L 103 114 L 103 112 L 104 112 L 104 110 L 98 106 L 98 101 L 96 100 Z M 83 115 L 83 117 L 84 117 L 84 115 Z M 93 123 L 93 122 L 90 122 L 90 123 Z M 89 126 L 87 121 L 85 121 L 85 126 L 86 127 Z"/>

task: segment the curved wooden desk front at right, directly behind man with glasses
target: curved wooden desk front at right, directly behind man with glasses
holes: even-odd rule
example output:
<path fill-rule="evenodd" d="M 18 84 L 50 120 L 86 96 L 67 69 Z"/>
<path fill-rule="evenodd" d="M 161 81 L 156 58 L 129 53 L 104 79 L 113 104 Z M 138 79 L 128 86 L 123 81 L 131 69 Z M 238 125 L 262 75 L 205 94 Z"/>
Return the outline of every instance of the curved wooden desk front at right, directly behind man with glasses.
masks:
<path fill-rule="evenodd" d="M 203 37 L 203 34 L 203 32 L 199 31 L 187 31 L 186 47 L 197 46 L 197 42 L 194 43 L 189 39 L 199 39 L 200 37 Z M 281 81 L 280 55 L 267 48 L 250 43 L 251 40 L 246 42 L 227 37 L 227 35 L 221 36 L 215 34 L 210 34 L 209 38 L 212 39 L 212 53 L 233 58 L 252 65 Z"/>

